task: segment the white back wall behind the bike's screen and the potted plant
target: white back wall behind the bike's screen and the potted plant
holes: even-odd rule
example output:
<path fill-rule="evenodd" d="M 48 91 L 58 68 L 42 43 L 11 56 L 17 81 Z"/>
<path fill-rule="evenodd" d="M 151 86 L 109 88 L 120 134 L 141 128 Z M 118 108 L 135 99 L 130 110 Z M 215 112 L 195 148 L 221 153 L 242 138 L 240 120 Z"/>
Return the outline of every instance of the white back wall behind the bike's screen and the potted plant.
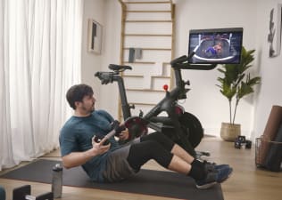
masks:
<path fill-rule="evenodd" d="M 243 44 L 253 49 L 255 44 L 256 1 L 245 0 L 178 0 L 176 1 L 176 52 L 187 53 L 188 31 L 197 28 L 244 28 Z M 255 67 L 254 67 L 255 68 Z M 190 80 L 191 92 L 185 105 L 188 111 L 198 116 L 205 133 L 220 135 L 221 122 L 228 122 L 228 100 L 220 93 L 217 69 L 211 71 L 184 71 L 184 78 Z M 253 100 L 248 98 L 239 104 L 236 123 L 241 124 L 242 134 L 252 130 Z"/>

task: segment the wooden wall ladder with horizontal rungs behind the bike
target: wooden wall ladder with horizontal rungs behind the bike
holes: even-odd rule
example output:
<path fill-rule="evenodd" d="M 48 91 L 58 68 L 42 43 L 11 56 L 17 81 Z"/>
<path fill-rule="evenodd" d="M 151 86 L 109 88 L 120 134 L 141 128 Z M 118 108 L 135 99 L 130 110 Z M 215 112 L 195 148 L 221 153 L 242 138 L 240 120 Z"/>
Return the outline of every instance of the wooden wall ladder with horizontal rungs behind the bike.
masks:
<path fill-rule="evenodd" d="M 146 113 L 162 100 L 163 84 L 172 84 L 170 60 L 174 47 L 174 10 L 171 0 L 119 0 L 122 8 L 120 64 L 133 69 L 122 74 L 132 116 Z M 121 120 L 119 106 L 119 120 Z"/>

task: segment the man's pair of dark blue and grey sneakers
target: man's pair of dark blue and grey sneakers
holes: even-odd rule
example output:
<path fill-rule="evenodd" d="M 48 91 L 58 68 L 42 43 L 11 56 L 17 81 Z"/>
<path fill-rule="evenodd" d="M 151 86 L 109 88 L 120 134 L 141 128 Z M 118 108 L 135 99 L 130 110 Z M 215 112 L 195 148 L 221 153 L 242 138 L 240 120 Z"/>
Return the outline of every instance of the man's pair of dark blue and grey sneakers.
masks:
<path fill-rule="evenodd" d="M 206 167 L 207 175 L 203 180 L 196 180 L 195 186 L 199 189 L 211 188 L 217 183 L 221 183 L 224 180 L 227 180 L 230 174 L 233 172 L 231 167 L 225 166 L 218 170 L 208 170 Z"/>

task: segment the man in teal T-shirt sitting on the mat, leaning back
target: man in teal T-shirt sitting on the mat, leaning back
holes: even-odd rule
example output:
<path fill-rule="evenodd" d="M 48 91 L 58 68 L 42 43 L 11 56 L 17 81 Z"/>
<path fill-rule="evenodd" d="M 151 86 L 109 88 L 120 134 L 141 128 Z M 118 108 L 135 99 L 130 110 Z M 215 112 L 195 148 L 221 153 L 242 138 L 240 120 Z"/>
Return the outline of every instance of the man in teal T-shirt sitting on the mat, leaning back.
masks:
<path fill-rule="evenodd" d="M 60 133 L 62 164 L 65 168 L 81 165 L 93 181 L 113 182 L 137 173 L 148 160 L 154 159 L 163 167 L 190 176 L 197 188 L 210 188 L 227 180 L 232 172 L 228 164 L 202 163 L 173 143 L 162 133 L 151 133 L 128 145 L 105 138 L 96 142 L 94 136 L 112 131 L 114 121 L 104 110 L 95 110 L 93 90 L 86 84 L 73 85 L 66 98 L 74 115 L 63 125 Z M 128 130 L 119 134 L 120 140 L 129 138 Z"/>

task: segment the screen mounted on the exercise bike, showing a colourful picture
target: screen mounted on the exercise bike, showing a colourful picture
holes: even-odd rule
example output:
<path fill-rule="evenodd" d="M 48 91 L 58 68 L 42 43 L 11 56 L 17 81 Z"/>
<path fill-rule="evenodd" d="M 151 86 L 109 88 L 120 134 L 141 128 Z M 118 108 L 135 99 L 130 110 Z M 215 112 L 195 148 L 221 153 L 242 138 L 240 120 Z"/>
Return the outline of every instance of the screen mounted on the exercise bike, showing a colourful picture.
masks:
<path fill-rule="evenodd" d="M 240 63 L 243 28 L 193 29 L 189 32 L 188 60 L 194 64 Z"/>

